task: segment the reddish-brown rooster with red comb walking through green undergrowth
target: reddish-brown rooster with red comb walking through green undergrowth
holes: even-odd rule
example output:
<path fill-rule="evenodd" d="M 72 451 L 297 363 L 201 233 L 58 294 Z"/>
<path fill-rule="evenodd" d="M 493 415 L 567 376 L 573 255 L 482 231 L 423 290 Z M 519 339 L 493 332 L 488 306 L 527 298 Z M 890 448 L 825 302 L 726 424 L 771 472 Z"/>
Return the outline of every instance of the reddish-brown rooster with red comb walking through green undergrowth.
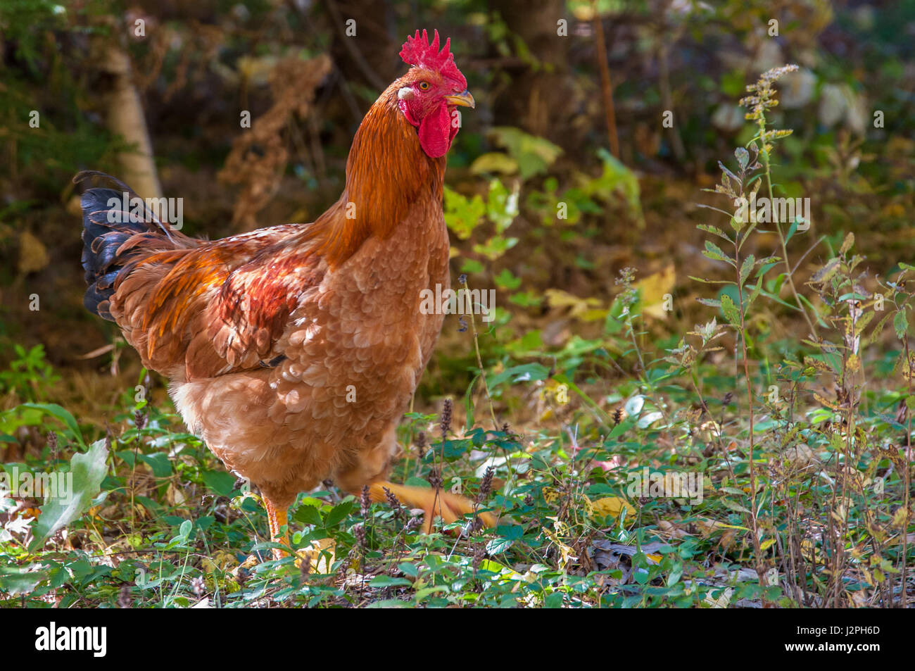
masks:
<path fill-rule="evenodd" d="M 439 49 L 437 30 L 431 44 L 417 30 L 400 56 L 410 69 L 371 105 L 343 193 L 315 222 L 210 242 L 124 211 L 113 189 L 81 197 L 86 308 L 167 376 L 185 423 L 257 485 L 286 547 L 288 506 L 327 479 L 422 508 L 426 531 L 475 512 L 439 488 L 385 481 L 442 328 L 420 296 L 450 286 L 445 155 L 457 107 L 474 107 L 450 38 Z"/>

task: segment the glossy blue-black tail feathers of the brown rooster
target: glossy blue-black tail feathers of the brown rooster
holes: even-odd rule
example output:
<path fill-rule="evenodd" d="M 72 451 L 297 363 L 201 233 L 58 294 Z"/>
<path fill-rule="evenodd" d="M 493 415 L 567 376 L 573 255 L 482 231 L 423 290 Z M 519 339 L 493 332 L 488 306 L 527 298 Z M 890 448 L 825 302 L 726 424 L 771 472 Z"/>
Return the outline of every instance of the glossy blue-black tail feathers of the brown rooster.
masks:
<path fill-rule="evenodd" d="M 171 236 L 167 227 L 151 212 L 144 209 L 141 214 L 133 209 L 131 199 L 137 196 L 124 182 L 88 170 L 78 174 L 73 181 L 80 182 L 95 175 L 110 179 L 121 190 L 88 189 L 82 194 L 82 267 L 89 285 L 82 304 L 102 319 L 113 321 L 109 299 L 114 293 L 114 280 L 122 268 L 118 249 L 136 233 L 152 230 L 165 233 L 169 239 Z"/>

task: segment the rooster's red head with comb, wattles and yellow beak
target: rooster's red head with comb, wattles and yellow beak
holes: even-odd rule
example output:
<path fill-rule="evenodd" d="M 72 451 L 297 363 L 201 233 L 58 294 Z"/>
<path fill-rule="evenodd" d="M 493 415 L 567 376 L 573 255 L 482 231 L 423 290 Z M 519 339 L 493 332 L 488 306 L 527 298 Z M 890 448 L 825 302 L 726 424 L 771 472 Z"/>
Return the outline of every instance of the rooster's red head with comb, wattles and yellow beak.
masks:
<path fill-rule="evenodd" d="M 426 155 L 445 156 L 455 135 L 458 135 L 458 106 L 475 106 L 467 90 L 467 80 L 455 65 L 450 52 L 451 38 L 438 49 L 438 31 L 429 43 L 429 36 L 419 31 L 406 38 L 400 56 L 413 67 L 398 80 L 397 106 L 406 120 L 414 124 L 419 144 Z"/>

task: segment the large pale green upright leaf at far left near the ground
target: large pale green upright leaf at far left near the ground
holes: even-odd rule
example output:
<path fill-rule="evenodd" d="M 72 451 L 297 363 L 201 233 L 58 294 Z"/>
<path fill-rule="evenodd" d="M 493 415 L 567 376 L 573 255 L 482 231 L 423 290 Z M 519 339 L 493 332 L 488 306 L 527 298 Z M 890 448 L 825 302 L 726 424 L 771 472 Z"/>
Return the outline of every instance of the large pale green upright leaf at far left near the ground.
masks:
<path fill-rule="evenodd" d="M 70 459 L 70 495 L 57 496 L 41 506 L 41 514 L 32 530 L 35 539 L 29 546 L 30 550 L 42 547 L 50 536 L 89 509 L 92 499 L 101 491 L 102 480 L 108 471 L 107 442 L 107 438 L 96 440 L 86 452 L 74 454 Z"/>

